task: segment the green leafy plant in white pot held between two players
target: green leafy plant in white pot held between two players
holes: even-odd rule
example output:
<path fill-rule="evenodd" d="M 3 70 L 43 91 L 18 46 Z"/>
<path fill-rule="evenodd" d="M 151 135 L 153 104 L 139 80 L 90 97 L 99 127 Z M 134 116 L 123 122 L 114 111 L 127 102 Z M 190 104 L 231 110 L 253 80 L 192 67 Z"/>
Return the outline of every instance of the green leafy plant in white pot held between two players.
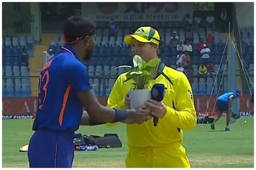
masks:
<path fill-rule="evenodd" d="M 157 67 L 161 60 L 152 59 L 145 62 L 141 56 L 133 56 L 133 67 L 119 66 L 132 68 L 127 74 L 127 80 L 133 80 L 133 88 L 129 91 L 130 108 L 135 109 L 140 107 L 144 102 L 151 98 L 151 89 L 149 89 L 149 80 L 153 79 L 152 70 Z"/>

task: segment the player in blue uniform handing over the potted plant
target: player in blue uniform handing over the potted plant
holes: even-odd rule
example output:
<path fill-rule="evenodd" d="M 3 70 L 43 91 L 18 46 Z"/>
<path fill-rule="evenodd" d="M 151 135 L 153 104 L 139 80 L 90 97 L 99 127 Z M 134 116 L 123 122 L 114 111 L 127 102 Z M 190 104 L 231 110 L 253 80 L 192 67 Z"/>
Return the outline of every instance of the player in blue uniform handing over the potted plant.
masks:
<path fill-rule="evenodd" d="M 39 77 L 38 108 L 29 142 L 31 168 L 72 167 L 73 134 L 79 125 L 111 122 L 141 124 L 149 118 L 145 105 L 136 110 L 110 109 L 92 92 L 86 67 L 95 47 L 95 24 L 73 16 L 64 24 L 59 54 L 44 65 Z M 83 115 L 83 107 L 87 111 Z"/>

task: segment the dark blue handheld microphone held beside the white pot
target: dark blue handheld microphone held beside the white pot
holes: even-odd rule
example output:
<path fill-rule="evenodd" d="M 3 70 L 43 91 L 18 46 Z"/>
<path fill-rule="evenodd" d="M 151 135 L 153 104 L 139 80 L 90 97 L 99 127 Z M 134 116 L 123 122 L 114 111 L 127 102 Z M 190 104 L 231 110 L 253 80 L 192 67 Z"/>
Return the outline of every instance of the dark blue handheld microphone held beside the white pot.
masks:
<path fill-rule="evenodd" d="M 152 87 L 152 90 L 151 90 L 152 100 L 155 100 L 155 101 L 158 101 L 158 102 L 163 101 L 164 90 L 165 90 L 164 84 L 154 84 L 153 87 Z M 154 123 L 154 126 L 157 126 L 158 117 L 153 116 L 153 123 Z"/>

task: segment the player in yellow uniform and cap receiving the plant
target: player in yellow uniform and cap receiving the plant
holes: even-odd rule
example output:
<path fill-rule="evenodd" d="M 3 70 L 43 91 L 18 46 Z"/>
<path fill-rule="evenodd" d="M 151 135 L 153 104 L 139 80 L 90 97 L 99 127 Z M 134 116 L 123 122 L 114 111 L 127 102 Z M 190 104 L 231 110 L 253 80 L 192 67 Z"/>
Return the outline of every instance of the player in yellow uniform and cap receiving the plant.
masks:
<path fill-rule="evenodd" d="M 160 36 L 150 26 L 140 27 L 134 34 L 124 37 L 124 42 L 132 46 L 132 54 L 140 55 L 146 62 L 158 58 Z M 126 74 L 118 76 L 107 100 L 107 107 L 129 108 L 127 93 L 133 88 L 133 80 L 126 81 Z M 152 119 L 143 124 L 127 124 L 126 167 L 183 167 L 189 168 L 190 162 L 183 147 L 183 130 L 193 130 L 197 117 L 190 83 L 185 74 L 160 62 L 153 71 L 154 83 L 165 85 L 163 102 L 149 100 L 152 115 L 159 118 L 157 126 Z"/>

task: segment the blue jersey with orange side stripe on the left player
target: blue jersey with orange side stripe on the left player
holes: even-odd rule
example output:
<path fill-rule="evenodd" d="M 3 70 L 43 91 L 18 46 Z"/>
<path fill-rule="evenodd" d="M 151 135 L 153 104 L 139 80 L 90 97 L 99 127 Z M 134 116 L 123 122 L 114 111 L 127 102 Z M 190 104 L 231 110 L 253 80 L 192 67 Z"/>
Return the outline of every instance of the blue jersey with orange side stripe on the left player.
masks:
<path fill-rule="evenodd" d="M 39 77 L 33 130 L 76 131 L 83 114 L 78 92 L 91 89 L 86 67 L 69 45 L 45 63 Z"/>

